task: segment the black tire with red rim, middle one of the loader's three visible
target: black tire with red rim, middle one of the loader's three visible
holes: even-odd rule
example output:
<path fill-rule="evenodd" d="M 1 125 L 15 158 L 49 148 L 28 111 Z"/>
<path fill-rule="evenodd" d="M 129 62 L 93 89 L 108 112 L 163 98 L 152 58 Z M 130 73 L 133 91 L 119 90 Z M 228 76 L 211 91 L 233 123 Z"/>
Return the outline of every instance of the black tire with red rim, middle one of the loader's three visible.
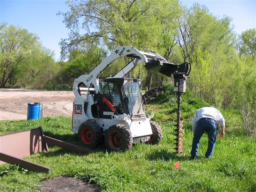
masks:
<path fill-rule="evenodd" d="M 124 125 L 113 125 L 106 130 L 105 146 L 110 151 L 128 151 L 132 148 L 132 134 Z"/>

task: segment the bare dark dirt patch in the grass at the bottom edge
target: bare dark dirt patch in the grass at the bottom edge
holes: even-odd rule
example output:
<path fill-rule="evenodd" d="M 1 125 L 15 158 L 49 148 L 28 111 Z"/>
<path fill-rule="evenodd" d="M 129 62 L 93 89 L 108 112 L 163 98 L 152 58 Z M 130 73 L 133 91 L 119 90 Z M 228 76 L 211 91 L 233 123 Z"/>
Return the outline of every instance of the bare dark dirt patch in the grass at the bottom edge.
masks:
<path fill-rule="evenodd" d="M 58 176 L 42 182 L 40 192 L 99 192 L 100 187 L 95 184 L 86 184 L 78 179 Z"/>

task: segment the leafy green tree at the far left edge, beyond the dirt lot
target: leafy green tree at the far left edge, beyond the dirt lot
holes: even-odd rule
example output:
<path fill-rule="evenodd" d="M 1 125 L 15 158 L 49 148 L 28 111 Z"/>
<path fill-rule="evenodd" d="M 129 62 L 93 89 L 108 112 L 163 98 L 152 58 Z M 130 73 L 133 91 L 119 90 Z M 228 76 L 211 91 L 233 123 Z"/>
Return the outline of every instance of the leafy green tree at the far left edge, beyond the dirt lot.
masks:
<path fill-rule="evenodd" d="M 26 29 L 13 25 L 7 27 L 3 23 L 0 26 L 0 39 L 0 87 L 4 87 L 8 80 L 13 85 L 20 78 L 24 60 L 31 54 L 38 37 Z"/>

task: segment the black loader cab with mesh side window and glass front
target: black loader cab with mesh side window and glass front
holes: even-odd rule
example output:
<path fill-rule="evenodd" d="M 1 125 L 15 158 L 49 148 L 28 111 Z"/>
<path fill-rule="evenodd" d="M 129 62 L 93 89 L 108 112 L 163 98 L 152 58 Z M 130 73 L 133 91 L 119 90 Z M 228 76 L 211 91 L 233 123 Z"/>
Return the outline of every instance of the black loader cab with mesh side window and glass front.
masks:
<path fill-rule="evenodd" d="M 144 118 L 141 86 L 142 80 L 138 79 L 100 79 L 99 93 L 95 94 L 95 104 L 92 106 L 92 109 L 98 109 L 98 113 L 93 113 L 94 118 L 111 119 L 112 115 L 123 113 L 127 114 L 132 120 Z"/>

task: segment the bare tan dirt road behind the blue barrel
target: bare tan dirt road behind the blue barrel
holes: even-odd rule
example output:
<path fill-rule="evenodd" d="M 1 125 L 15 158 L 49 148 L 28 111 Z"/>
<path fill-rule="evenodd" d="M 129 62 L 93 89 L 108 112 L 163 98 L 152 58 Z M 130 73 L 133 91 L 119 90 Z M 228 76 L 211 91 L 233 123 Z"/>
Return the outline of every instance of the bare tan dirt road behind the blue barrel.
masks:
<path fill-rule="evenodd" d="M 72 91 L 0 89 L 0 120 L 27 119 L 28 102 L 42 103 L 42 117 L 71 117 L 73 101 Z"/>

